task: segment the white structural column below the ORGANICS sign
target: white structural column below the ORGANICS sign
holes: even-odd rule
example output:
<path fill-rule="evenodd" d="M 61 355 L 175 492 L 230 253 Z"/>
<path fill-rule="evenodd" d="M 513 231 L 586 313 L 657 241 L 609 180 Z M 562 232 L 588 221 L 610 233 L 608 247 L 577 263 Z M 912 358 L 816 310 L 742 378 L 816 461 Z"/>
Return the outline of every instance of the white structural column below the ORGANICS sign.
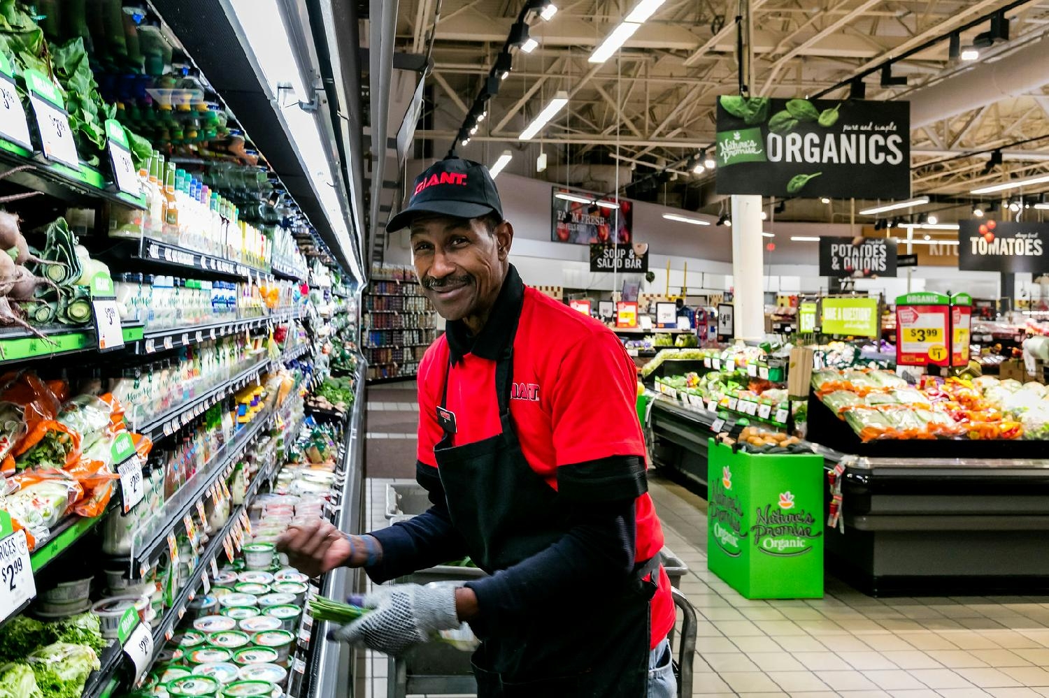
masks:
<path fill-rule="evenodd" d="M 732 286 L 735 339 L 765 337 L 762 197 L 732 197 Z"/>

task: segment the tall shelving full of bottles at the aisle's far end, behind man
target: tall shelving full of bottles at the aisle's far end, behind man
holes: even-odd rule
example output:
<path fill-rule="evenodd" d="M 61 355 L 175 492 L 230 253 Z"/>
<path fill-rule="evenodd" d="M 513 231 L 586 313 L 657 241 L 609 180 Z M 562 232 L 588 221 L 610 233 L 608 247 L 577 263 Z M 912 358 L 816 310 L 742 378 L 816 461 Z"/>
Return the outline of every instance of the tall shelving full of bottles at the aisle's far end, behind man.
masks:
<path fill-rule="evenodd" d="M 407 380 L 436 339 L 436 313 L 410 272 L 372 277 L 361 307 L 368 381 Z"/>

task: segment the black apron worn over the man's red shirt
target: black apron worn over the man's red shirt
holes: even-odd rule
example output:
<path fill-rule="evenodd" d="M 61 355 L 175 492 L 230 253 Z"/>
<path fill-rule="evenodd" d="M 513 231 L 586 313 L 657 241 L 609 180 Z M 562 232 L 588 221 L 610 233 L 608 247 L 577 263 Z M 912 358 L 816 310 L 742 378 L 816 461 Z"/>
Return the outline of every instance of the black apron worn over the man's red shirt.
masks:
<path fill-rule="evenodd" d="M 545 549 L 569 528 L 556 490 L 526 461 L 511 422 L 513 335 L 495 369 L 502 433 L 452 445 L 446 373 L 438 411 L 445 437 L 433 451 L 452 523 L 489 574 Z M 614 601 L 595 604 L 579 589 L 568 613 L 536 609 L 534 621 L 493 629 L 473 655 L 478 698 L 645 698 L 658 572 L 657 557 L 636 566 Z"/>

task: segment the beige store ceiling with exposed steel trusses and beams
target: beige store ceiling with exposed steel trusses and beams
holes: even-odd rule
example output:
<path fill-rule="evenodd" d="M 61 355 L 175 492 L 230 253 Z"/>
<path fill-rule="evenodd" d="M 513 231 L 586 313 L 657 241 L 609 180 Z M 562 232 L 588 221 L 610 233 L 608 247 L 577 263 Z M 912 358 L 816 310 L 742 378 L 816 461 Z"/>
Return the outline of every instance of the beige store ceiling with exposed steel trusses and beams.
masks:
<path fill-rule="evenodd" d="M 414 53 L 426 52 L 440 5 L 429 78 L 437 111 L 432 123 L 437 126 L 418 134 L 434 139 L 435 154 L 454 138 L 455 126 L 473 103 L 522 2 L 400 3 L 399 50 Z M 542 143 L 553 145 L 548 150 L 561 157 L 571 145 L 572 163 L 611 162 L 618 154 L 639 160 L 642 174 L 651 171 L 647 162 L 675 162 L 711 144 L 715 96 L 737 90 L 736 0 L 668 0 L 626 42 L 618 61 L 613 58 L 600 65 L 588 63 L 588 56 L 637 2 L 555 0 L 555 4 L 558 12 L 552 21 L 532 25 L 539 47 L 528 54 L 516 52 L 514 70 L 474 136 L 491 144 L 487 153 L 518 148 L 523 125 L 557 90 L 566 90 L 571 100 L 543 130 Z M 906 77 L 906 86 L 882 88 L 879 74 L 868 78 L 866 99 L 932 103 L 921 112 L 930 116 L 922 119 L 927 123 L 912 134 L 916 195 L 966 198 L 975 187 L 1002 181 L 1010 173 L 1034 176 L 1049 171 L 1049 69 L 1026 80 L 1019 91 L 1006 86 L 1009 96 L 1001 93 L 1002 75 L 980 74 L 991 72 L 994 61 L 1013 51 L 1049 56 L 1049 45 L 1030 48 L 1049 31 L 1049 2 L 751 0 L 751 6 L 756 78 L 752 91 L 780 97 L 835 88 L 929 40 L 1008 8 L 1010 41 L 982 50 L 977 62 L 963 63 L 949 58 L 944 40 L 894 64 L 893 75 Z M 962 46 L 988 26 L 983 22 L 962 31 Z M 926 86 L 940 81 L 950 81 L 951 91 L 970 101 L 971 108 L 922 94 Z M 848 94 L 848 88 L 838 88 L 828 96 Z M 1004 150 L 1004 162 L 985 172 L 989 151 L 996 148 Z M 986 152 L 971 155 L 972 151 Z M 534 162 L 534 154 L 531 159 Z M 679 194 L 678 200 L 687 208 L 716 208 L 712 188 L 705 186 L 709 180 L 709 174 L 705 178 L 689 174 L 672 188 L 699 187 L 703 192 L 698 197 Z M 826 219 L 827 211 L 798 202 L 786 216 Z"/>

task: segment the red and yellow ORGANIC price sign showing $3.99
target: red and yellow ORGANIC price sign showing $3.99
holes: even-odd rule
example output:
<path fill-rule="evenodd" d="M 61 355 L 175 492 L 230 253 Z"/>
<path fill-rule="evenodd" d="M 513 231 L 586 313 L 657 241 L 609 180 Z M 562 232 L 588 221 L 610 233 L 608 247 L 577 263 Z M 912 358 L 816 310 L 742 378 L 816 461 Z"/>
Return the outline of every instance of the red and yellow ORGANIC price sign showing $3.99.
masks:
<path fill-rule="evenodd" d="M 896 299 L 896 363 L 950 365 L 950 299 L 942 293 L 907 293 Z"/>

